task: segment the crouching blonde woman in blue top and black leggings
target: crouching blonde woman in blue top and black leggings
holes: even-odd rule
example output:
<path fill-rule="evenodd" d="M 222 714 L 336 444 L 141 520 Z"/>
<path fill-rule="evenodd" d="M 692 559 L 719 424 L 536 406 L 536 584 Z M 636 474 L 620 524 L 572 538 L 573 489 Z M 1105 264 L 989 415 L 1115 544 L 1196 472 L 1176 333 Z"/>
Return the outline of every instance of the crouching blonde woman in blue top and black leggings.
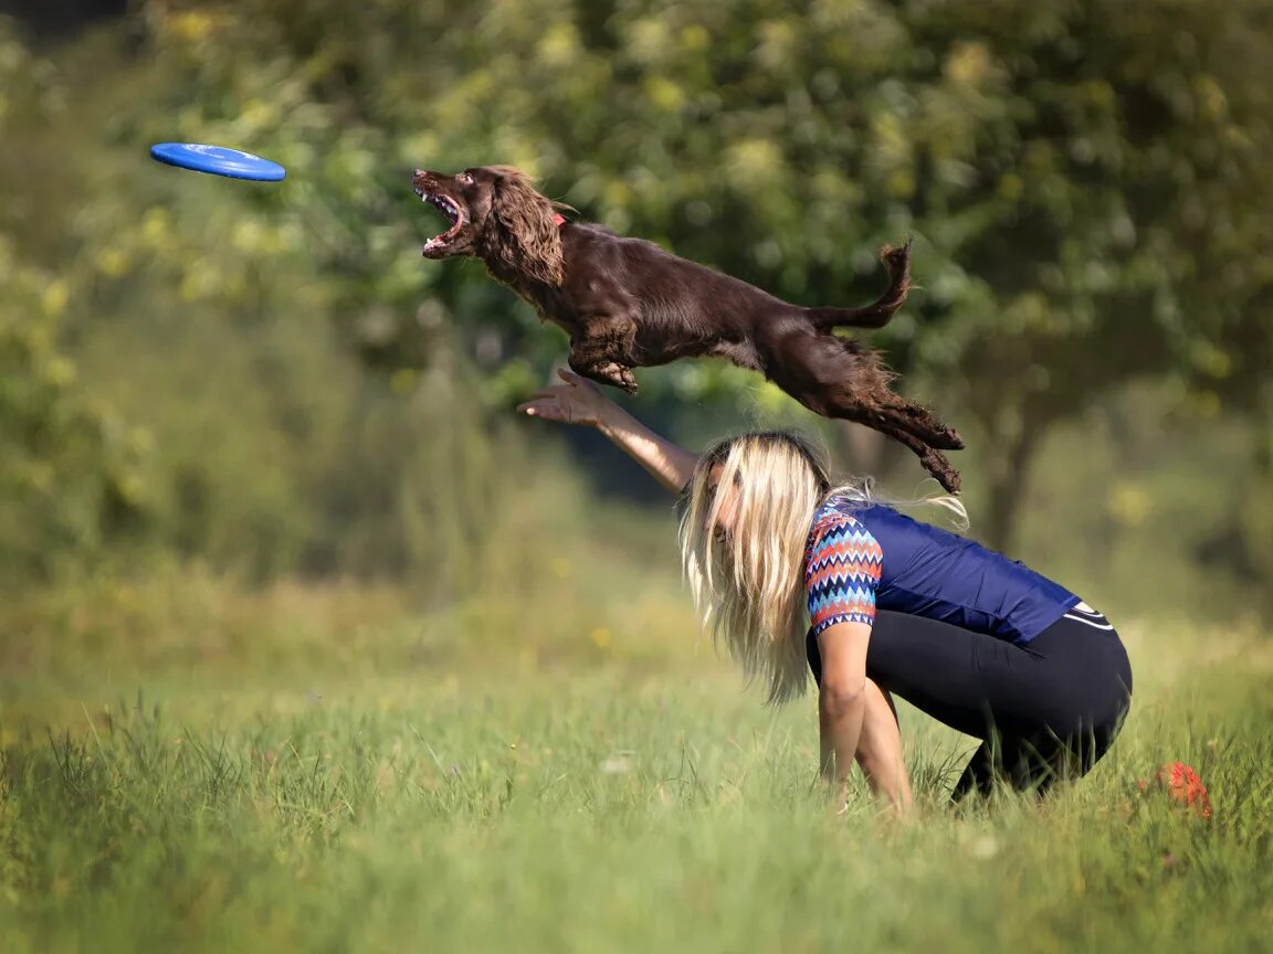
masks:
<path fill-rule="evenodd" d="M 681 552 L 704 626 L 784 702 L 819 687 L 822 772 L 853 762 L 897 810 L 911 801 L 891 695 L 981 739 L 953 798 L 997 781 L 1043 794 L 1105 754 L 1132 669 L 1105 617 L 965 537 L 833 485 L 798 435 L 759 431 L 699 455 L 569 371 L 518 411 L 598 429 L 681 495 Z M 951 497 L 937 505 L 964 516 Z"/>

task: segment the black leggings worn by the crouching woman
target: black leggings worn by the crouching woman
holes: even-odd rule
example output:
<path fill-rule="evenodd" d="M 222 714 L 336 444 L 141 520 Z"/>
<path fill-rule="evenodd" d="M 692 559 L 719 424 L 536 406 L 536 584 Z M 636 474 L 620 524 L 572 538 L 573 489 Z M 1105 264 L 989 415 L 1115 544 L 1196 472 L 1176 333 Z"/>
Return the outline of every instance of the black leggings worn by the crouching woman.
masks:
<path fill-rule="evenodd" d="M 1076 618 L 1080 617 L 1080 618 Z M 810 630 L 808 664 L 822 660 Z M 988 795 L 995 780 L 1045 792 L 1105 754 L 1132 701 L 1118 633 L 1078 609 L 1018 646 L 951 623 L 880 611 L 867 675 L 950 728 L 981 739 L 952 798 Z"/>

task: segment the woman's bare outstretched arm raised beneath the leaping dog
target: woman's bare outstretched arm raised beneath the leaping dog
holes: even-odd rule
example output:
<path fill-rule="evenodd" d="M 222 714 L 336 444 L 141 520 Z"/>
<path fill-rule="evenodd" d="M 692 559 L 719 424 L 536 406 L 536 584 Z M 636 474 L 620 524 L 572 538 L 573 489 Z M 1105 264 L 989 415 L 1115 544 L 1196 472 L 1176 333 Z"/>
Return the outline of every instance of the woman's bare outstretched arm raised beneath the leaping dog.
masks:
<path fill-rule="evenodd" d="M 654 434 L 578 374 L 558 370 L 561 384 L 535 392 L 517 410 L 528 417 L 596 427 L 672 494 L 680 494 L 694 476 L 698 454 Z"/>

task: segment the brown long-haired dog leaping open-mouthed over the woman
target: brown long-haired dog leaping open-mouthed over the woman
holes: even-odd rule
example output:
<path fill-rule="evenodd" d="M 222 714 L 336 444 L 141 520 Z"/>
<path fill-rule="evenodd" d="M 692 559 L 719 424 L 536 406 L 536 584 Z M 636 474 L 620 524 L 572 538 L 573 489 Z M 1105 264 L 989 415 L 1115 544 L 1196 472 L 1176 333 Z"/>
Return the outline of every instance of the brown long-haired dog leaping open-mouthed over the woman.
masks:
<path fill-rule="evenodd" d="M 878 355 L 836 327 L 881 328 L 906 300 L 910 245 L 881 256 L 889 289 L 866 308 L 803 308 L 754 285 L 600 225 L 568 223 L 568 210 L 518 169 L 491 165 L 456 176 L 416 170 L 416 193 L 451 229 L 428 258 L 471 256 L 570 336 L 570 368 L 636 392 L 633 368 L 709 355 L 761 371 L 810 410 L 857 421 L 901 441 L 946 490 L 959 472 L 941 453 L 964 441 L 932 412 L 890 391 Z"/>

